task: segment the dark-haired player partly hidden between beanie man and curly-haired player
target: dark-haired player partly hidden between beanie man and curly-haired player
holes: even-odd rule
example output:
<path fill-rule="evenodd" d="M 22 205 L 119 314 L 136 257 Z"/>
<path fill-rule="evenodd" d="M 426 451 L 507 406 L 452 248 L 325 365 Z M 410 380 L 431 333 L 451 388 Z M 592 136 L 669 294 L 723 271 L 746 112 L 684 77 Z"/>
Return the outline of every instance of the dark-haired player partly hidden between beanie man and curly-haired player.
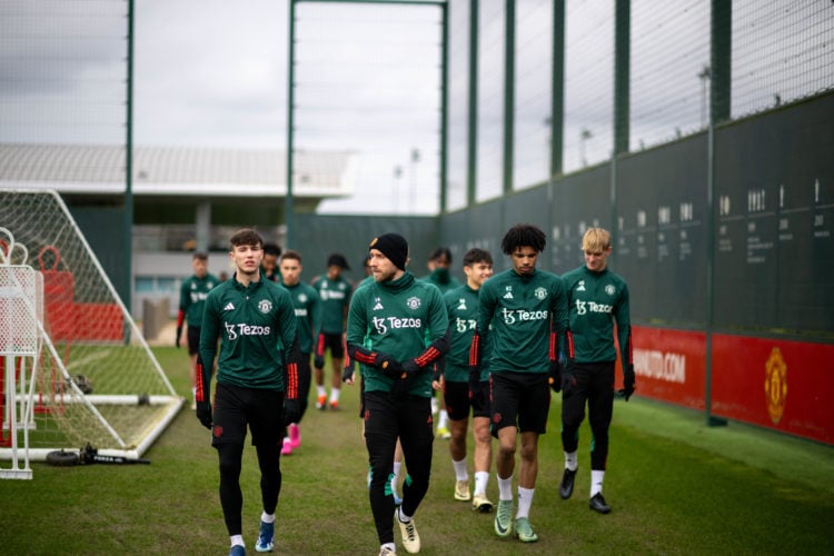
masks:
<path fill-rule="evenodd" d="M 434 386 L 441 389 L 449 414 L 451 438 L 449 455 L 455 469 L 455 499 L 473 500 L 473 509 L 489 513 L 493 503 L 486 496 L 489 466 L 493 463 L 493 445 L 489 435 L 489 349 L 485 349 L 480 375 L 469 387 L 469 347 L 478 321 L 478 291 L 493 276 L 493 257 L 484 249 L 473 248 L 464 255 L 466 284 L 444 296 L 449 316 L 449 353 L 438 364 Z M 473 396 L 469 397 L 471 389 Z M 469 473 L 466 463 L 466 433 L 471 411 L 475 453 L 475 492 L 469 493 Z"/>

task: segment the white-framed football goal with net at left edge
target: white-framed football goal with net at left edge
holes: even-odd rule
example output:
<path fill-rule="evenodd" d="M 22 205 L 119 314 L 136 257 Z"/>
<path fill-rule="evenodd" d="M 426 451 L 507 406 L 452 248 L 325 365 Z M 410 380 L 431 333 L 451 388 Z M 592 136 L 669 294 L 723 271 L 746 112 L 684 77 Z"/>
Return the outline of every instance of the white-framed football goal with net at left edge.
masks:
<path fill-rule="evenodd" d="M 0 188 L 0 266 L 31 267 L 43 285 L 42 316 L 11 311 L 3 291 L 13 297 L 18 275 L 0 275 L 0 327 L 29 329 L 34 316 L 38 336 L 33 355 L 0 357 L 0 385 L 9 374 L 17 385 L 0 396 L 0 458 L 23 433 L 33 460 L 88 444 L 140 457 L 182 399 L 57 192 Z"/>

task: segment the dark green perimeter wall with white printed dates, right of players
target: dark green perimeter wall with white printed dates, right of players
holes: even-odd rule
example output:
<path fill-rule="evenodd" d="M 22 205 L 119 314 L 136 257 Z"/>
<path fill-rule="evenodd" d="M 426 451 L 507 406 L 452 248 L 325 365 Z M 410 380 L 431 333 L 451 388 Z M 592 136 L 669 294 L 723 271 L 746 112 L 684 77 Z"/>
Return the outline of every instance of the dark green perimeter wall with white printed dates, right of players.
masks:
<path fill-rule="evenodd" d="M 444 215 L 440 242 L 503 270 L 506 230 L 535 224 L 539 266 L 563 274 L 600 226 L 635 324 L 834 342 L 834 95 L 719 126 L 714 146 L 703 132 Z"/>

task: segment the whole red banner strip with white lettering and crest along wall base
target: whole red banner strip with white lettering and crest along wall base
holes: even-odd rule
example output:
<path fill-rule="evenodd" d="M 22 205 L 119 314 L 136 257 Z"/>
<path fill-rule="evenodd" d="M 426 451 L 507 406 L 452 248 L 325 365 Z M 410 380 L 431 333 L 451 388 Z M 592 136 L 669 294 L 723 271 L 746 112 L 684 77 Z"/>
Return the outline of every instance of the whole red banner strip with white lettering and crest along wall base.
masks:
<path fill-rule="evenodd" d="M 706 335 L 633 328 L 638 396 L 704 410 Z M 711 415 L 834 443 L 834 346 L 713 335 Z"/>

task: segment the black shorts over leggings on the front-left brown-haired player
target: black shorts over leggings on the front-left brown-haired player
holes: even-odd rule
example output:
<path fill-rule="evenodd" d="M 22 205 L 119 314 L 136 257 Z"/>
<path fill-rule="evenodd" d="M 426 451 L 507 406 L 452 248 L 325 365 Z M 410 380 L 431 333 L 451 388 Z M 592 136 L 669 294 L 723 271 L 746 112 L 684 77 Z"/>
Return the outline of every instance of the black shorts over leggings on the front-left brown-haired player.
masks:
<path fill-rule="evenodd" d="M 217 383 L 211 445 L 242 445 L 247 425 L 254 446 L 279 444 L 284 437 L 284 391 Z"/>

